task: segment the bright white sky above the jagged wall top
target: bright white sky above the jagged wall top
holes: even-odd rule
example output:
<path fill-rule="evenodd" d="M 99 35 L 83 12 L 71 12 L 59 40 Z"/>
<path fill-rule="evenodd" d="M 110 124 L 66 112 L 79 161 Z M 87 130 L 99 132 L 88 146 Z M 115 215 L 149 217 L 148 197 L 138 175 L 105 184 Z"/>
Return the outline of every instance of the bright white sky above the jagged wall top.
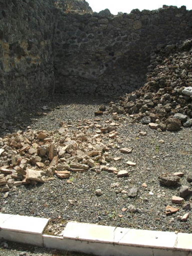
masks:
<path fill-rule="evenodd" d="M 133 9 L 155 10 L 166 5 L 181 7 L 185 5 L 188 10 L 192 10 L 192 0 L 86 0 L 93 12 L 100 12 L 108 8 L 110 12 L 116 15 L 118 12 L 130 13 Z"/>

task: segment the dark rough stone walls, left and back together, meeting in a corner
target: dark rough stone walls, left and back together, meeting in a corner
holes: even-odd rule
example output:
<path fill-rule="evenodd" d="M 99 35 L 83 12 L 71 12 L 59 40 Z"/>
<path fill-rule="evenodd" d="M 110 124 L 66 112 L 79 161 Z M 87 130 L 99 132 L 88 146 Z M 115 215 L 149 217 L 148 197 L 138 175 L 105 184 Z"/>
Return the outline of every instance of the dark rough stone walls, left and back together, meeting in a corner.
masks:
<path fill-rule="evenodd" d="M 114 16 L 84 0 L 0 0 L 0 119 L 53 92 L 133 91 L 158 49 L 190 37 L 184 6 Z"/>

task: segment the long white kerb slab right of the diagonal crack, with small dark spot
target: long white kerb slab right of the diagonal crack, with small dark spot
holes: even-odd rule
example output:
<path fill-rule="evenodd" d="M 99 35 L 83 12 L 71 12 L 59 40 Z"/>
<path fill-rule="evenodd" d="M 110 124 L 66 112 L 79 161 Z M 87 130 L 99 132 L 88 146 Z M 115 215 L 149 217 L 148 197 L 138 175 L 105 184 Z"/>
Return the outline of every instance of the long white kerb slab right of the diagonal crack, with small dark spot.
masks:
<path fill-rule="evenodd" d="M 131 229 L 119 244 L 150 248 L 173 249 L 177 235 L 174 232 Z"/>

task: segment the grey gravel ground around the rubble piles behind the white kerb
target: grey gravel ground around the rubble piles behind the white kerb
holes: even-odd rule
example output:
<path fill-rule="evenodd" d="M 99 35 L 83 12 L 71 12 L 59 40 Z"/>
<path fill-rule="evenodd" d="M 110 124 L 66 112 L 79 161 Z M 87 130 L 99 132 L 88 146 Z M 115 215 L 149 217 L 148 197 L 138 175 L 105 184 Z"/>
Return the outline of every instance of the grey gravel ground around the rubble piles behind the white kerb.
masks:
<path fill-rule="evenodd" d="M 60 127 L 61 121 L 76 123 L 78 120 L 94 119 L 94 111 L 106 102 L 108 100 L 94 102 L 89 99 L 77 101 L 56 98 L 55 102 L 46 103 L 49 107 L 49 111 L 44 111 L 46 115 L 34 116 L 34 113 L 41 109 L 39 105 L 38 109 L 31 110 L 30 118 L 33 121 L 31 119 L 29 121 L 30 113 L 25 113 L 23 117 L 15 118 L 19 122 L 15 125 L 23 128 L 30 125 L 32 129 L 38 130 L 56 130 Z M 104 170 L 101 173 L 88 170 L 84 173 L 72 173 L 71 184 L 54 177 L 42 185 L 20 186 L 15 191 L 10 191 L 7 198 L 1 194 L 0 211 L 50 218 L 49 231 L 47 231 L 50 234 L 58 234 L 68 220 L 191 233 L 190 210 L 183 210 L 181 205 L 172 203 L 172 196 L 178 196 L 179 186 L 171 188 L 161 186 L 158 176 L 165 172 L 181 171 L 184 176 L 180 179 L 180 184 L 192 187 L 186 180 L 187 173 L 191 171 L 192 129 L 184 128 L 179 132 L 157 132 L 150 129 L 148 125 L 132 123 L 129 116 L 119 115 L 119 117 L 123 117 L 117 129 L 119 137 L 115 140 L 104 137 L 102 142 L 107 145 L 114 142 L 109 156 L 112 158 L 118 156 L 122 159 L 111 161 L 109 166 L 116 167 L 118 170 L 130 170 L 128 177 L 118 178 L 114 173 Z M 101 121 L 98 123 L 103 124 L 106 120 L 112 119 L 112 115 L 106 114 L 99 118 Z M 18 129 L 18 126 L 13 127 L 13 123 L 9 123 L 9 128 L 12 131 L 12 129 Z M 70 129 L 76 129 L 76 126 Z M 141 136 L 140 131 L 146 132 L 147 135 Z M 95 133 L 95 130 L 92 129 L 92 132 Z M 121 153 L 122 147 L 132 148 L 132 153 Z M 136 166 L 128 166 L 127 161 L 135 162 Z M 118 183 L 116 187 L 111 185 L 114 183 Z M 143 183 L 146 183 L 147 187 L 143 187 Z M 127 193 L 133 186 L 138 188 L 137 196 L 129 197 Z M 101 196 L 95 194 L 96 189 L 101 189 Z M 190 202 L 191 199 L 189 196 L 185 202 Z M 130 212 L 130 205 L 138 210 Z M 178 207 L 180 210 L 176 214 L 166 215 L 167 205 Z M 186 222 L 177 218 L 178 215 L 183 216 L 187 212 L 190 214 Z"/>

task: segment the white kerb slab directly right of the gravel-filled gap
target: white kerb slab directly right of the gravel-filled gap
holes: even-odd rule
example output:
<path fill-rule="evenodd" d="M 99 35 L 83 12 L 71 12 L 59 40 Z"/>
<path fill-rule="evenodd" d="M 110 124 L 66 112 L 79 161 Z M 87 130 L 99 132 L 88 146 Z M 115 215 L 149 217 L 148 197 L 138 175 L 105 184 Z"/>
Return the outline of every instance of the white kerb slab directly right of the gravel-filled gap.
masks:
<path fill-rule="evenodd" d="M 115 227 L 89 223 L 68 222 L 62 235 L 65 238 L 113 243 Z"/>

